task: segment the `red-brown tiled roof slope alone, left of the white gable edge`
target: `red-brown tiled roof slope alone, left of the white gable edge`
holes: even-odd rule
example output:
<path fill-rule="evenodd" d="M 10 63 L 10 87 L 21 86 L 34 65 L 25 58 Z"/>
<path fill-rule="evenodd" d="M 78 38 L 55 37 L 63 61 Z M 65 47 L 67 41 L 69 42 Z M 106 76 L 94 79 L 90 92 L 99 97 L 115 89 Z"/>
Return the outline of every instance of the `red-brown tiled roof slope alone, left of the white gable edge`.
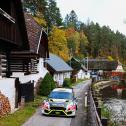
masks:
<path fill-rule="evenodd" d="M 30 45 L 30 52 L 37 53 L 42 27 L 33 19 L 32 15 L 25 13 L 25 23 Z"/>

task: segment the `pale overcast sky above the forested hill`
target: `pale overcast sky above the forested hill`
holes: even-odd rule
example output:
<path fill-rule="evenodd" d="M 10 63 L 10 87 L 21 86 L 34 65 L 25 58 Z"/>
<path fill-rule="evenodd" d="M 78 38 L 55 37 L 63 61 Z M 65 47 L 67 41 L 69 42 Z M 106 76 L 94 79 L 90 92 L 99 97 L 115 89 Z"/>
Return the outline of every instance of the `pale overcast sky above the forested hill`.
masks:
<path fill-rule="evenodd" d="M 126 0 L 56 0 L 62 18 L 74 10 L 78 20 L 89 19 L 126 35 Z"/>

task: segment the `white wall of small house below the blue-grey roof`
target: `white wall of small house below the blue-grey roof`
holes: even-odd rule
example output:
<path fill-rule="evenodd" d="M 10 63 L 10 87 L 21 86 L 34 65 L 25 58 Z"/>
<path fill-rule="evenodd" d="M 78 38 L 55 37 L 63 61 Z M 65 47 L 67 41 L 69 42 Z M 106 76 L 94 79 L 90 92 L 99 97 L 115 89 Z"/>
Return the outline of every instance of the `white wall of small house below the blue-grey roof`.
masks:
<path fill-rule="evenodd" d="M 54 81 L 56 81 L 59 86 L 63 84 L 63 81 L 65 78 L 70 78 L 71 72 L 60 72 L 60 73 L 55 73 L 53 76 Z"/>

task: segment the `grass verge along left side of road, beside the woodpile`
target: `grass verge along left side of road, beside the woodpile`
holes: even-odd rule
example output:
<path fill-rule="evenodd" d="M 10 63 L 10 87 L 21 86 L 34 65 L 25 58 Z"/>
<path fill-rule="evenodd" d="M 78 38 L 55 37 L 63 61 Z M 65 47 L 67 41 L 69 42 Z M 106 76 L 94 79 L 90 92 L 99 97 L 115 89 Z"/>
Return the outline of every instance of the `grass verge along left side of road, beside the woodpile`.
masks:
<path fill-rule="evenodd" d="M 23 109 L 19 109 L 13 114 L 9 114 L 0 119 L 0 126 L 21 126 L 29 117 L 31 117 L 36 108 L 40 106 L 45 97 L 36 96 L 34 102 L 25 104 Z"/>

